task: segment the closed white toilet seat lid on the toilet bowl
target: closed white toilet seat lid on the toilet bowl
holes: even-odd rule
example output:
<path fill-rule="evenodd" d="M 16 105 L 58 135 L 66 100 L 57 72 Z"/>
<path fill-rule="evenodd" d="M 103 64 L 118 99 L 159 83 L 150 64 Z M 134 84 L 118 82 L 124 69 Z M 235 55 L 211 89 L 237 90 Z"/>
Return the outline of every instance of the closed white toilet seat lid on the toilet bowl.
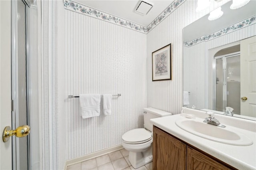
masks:
<path fill-rule="evenodd" d="M 151 132 L 144 128 L 132 129 L 122 135 L 122 141 L 127 144 L 141 144 L 151 139 Z"/>

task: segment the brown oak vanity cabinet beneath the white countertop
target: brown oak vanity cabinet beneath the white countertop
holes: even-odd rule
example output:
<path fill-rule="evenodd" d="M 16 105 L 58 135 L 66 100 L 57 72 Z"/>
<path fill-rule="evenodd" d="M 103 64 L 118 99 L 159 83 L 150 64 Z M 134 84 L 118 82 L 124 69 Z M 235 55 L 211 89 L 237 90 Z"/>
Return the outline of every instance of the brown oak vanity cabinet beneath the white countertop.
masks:
<path fill-rule="evenodd" d="M 153 135 L 153 170 L 236 170 L 158 127 Z"/>

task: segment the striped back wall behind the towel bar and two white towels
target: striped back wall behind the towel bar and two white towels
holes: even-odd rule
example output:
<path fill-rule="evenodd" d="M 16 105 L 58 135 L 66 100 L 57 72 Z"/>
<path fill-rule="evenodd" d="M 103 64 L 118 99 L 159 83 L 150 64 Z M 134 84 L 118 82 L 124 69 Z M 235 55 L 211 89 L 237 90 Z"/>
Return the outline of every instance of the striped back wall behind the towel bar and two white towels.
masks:
<path fill-rule="evenodd" d="M 65 97 L 117 94 L 112 115 L 82 119 L 79 99 L 66 99 L 66 159 L 121 144 L 124 132 L 143 127 L 146 107 L 146 35 L 65 10 Z"/>

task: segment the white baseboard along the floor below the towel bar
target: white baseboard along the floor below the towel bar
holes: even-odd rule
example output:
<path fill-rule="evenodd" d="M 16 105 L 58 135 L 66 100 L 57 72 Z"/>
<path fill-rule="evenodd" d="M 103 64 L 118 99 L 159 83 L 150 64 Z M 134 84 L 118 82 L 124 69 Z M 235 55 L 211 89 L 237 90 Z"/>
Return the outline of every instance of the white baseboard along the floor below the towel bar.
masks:
<path fill-rule="evenodd" d="M 102 149 L 102 150 L 99 150 L 99 151 L 96 151 L 96 152 L 92 152 L 90 154 L 86 154 L 86 155 L 83 155 L 83 156 L 80 156 L 80 157 L 77 157 L 77 158 L 66 160 L 65 164 L 64 164 L 65 170 L 70 165 L 74 165 L 74 164 L 77 164 L 77 163 L 80 163 L 80 162 L 84 162 L 86 160 L 96 158 L 98 156 L 102 156 L 102 155 L 105 155 L 105 154 L 109 154 L 111 152 L 115 152 L 115 151 L 120 150 L 120 149 L 123 149 L 122 144 L 119 144 L 119 145 L 116 145 L 116 146 L 113 146 L 113 147 L 110 147 L 110 148 Z"/>

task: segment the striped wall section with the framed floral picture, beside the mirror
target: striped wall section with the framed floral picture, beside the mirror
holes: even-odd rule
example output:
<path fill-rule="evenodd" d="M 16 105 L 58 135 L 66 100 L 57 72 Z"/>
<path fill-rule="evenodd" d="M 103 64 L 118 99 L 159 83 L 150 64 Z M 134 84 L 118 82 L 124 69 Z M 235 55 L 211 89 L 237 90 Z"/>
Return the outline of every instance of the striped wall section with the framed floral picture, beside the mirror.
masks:
<path fill-rule="evenodd" d="M 228 2 L 223 0 L 201 13 L 196 13 L 196 0 L 187 0 L 147 34 L 147 105 L 180 113 L 182 107 L 182 29 Z M 152 52 L 172 43 L 172 80 L 152 81 Z M 196 75 L 195 75 L 196 76 Z"/>

